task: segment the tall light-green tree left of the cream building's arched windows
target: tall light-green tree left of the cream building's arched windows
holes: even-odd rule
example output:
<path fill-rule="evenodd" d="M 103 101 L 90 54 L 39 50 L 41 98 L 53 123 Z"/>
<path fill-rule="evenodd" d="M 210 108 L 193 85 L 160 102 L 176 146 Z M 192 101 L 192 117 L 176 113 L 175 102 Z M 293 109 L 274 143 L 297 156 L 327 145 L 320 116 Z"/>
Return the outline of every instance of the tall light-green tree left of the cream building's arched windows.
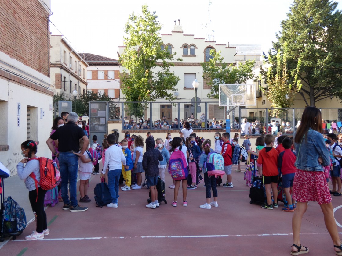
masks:
<path fill-rule="evenodd" d="M 133 12 L 125 25 L 126 47 L 119 61 L 126 72 L 121 74 L 120 81 L 127 102 L 156 101 L 158 98 L 175 100 L 172 91 L 176 90 L 180 79 L 170 71 L 170 67 L 174 66 L 171 61 L 176 53 L 170 54 L 167 49 L 161 49 L 163 42 L 159 31 L 162 26 L 157 17 L 147 5 L 143 5 L 142 14 Z M 129 114 L 141 117 L 147 106 L 132 103 L 126 108 Z"/>

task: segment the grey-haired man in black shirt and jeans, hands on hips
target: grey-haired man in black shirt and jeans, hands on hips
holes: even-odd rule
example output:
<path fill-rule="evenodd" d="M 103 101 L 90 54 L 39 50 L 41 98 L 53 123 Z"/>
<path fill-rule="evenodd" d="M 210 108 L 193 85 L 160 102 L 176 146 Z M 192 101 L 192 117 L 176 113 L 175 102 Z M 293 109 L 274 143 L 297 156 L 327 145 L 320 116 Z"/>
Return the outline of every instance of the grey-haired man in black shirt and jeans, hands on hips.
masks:
<path fill-rule="evenodd" d="M 84 134 L 84 130 L 76 125 L 77 120 L 78 115 L 71 112 L 68 116 L 68 123 L 58 128 L 46 142 L 52 154 L 58 157 L 62 178 L 63 210 L 70 209 L 70 212 L 88 210 L 88 207 L 81 207 L 77 202 L 78 157 L 84 154 L 89 144 L 89 139 Z M 77 153 L 79 151 L 79 139 L 84 141 L 80 154 Z M 56 152 L 53 146 L 54 140 L 58 140 L 59 153 Z M 68 196 L 68 183 L 70 200 Z"/>

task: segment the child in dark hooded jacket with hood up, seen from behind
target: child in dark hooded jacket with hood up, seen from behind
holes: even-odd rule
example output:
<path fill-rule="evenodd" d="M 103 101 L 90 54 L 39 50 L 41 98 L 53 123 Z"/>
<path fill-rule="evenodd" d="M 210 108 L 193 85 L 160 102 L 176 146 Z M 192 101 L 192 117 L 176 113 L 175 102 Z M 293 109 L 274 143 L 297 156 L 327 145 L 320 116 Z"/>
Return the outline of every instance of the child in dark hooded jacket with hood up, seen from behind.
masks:
<path fill-rule="evenodd" d="M 159 139 L 159 141 L 162 142 L 161 139 Z M 146 207 L 150 209 L 156 209 L 159 207 L 158 192 L 156 188 L 158 185 L 159 176 L 158 165 L 159 161 L 163 160 L 163 156 L 159 152 L 159 149 L 155 148 L 156 144 L 152 136 L 147 137 L 145 143 L 146 152 L 143 155 L 142 166 L 146 173 L 146 185 L 149 186 L 151 193 L 151 202 L 147 204 Z"/>

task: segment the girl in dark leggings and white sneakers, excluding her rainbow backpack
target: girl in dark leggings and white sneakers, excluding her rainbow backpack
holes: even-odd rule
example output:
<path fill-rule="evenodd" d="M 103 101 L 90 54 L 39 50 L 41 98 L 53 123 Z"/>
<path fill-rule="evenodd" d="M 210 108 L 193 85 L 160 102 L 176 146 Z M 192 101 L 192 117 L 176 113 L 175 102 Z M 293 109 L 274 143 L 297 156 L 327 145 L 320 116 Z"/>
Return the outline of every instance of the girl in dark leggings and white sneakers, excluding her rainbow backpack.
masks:
<path fill-rule="evenodd" d="M 208 176 L 207 174 L 208 169 L 204 168 L 205 163 L 207 163 L 208 154 L 211 152 L 210 147 L 211 147 L 210 140 L 205 140 L 202 144 L 203 153 L 201 154 L 199 158 L 199 167 L 202 168 L 203 170 L 204 184 L 206 185 L 206 197 L 207 197 L 207 202 L 199 206 L 199 208 L 201 209 L 211 209 L 212 206 L 213 207 L 219 206 L 217 203 L 218 193 L 217 193 L 217 188 L 216 188 L 216 177 L 214 175 Z M 212 202 L 210 202 L 211 201 L 210 189 L 213 191 L 213 197 L 214 197 L 214 200 Z"/>

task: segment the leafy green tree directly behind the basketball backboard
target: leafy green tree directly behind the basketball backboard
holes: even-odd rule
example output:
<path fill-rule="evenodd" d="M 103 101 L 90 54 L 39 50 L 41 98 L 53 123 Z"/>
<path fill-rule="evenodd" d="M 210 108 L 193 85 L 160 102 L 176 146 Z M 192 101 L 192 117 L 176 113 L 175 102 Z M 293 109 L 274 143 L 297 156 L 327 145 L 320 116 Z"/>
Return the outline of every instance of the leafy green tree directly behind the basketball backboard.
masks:
<path fill-rule="evenodd" d="M 210 86 L 210 93 L 207 96 L 215 99 L 219 99 L 219 84 L 244 84 L 247 80 L 255 78 L 253 74 L 254 60 L 239 62 L 236 66 L 227 65 L 223 62 L 220 53 L 221 51 L 210 50 L 210 55 L 213 58 L 201 62 L 202 77 Z"/>

